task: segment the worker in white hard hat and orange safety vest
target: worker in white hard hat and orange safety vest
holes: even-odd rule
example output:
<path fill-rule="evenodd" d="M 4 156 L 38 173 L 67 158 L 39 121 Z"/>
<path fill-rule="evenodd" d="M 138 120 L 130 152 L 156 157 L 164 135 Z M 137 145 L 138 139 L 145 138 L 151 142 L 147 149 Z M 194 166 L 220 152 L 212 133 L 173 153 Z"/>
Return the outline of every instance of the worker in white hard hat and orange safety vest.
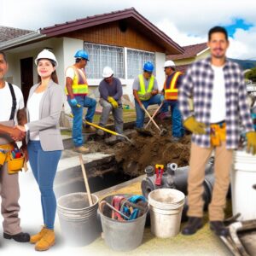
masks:
<path fill-rule="evenodd" d="M 172 113 L 172 138 L 171 142 L 176 143 L 184 136 L 182 115 L 178 109 L 177 92 L 178 86 L 181 84 L 183 74 L 175 71 L 173 61 L 166 61 L 165 65 L 166 81 L 162 91 L 161 102 L 164 97 L 164 105 L 168 109 L 171 107 Z M 164 107 L 164 108 L 165 108 Z"/>

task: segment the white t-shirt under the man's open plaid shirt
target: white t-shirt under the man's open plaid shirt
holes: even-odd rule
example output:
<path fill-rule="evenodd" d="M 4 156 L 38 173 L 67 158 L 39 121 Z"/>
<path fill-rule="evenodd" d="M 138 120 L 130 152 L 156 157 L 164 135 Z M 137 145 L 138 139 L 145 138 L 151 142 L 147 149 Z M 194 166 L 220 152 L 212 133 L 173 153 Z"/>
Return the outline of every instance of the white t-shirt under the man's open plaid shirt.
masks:
<path fill-rule="evenodd" d="M 223 67 L 212 65 L 214 71 L 212 88 L 211 123 L 218 123 L 226 119 L 226 96 Z"/>

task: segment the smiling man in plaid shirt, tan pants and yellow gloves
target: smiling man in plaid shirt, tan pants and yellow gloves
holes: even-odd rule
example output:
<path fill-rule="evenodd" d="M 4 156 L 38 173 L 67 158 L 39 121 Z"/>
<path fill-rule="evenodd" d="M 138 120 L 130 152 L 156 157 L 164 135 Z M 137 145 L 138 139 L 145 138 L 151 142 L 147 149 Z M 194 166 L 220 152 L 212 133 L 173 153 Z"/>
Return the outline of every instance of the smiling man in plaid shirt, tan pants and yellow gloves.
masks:
<path fill-rule="evenodd" d="M 193 63 L 179 88 L 178 102 L 183 125 L 192 131 L 189 160 L 189 222 L 183 235 L 202 227 L 203 181 L 207 160 L 215 150 L 215 183 L 209 205 L 210 228 L 218 236 L 229 235 L 224 227 L 224 207 L 230 184 L 233 150 L 240 138 L 240 125 L 247 134 L 247 149 L 256 153 L 256 133 L 247 106 L 247 89 L 238 64 L 226 59 L 229 47 L 226 30 L 215 26 L 208 32 L 211 57 Z M 189 112 L 193 96 L 194 113 Z"/>

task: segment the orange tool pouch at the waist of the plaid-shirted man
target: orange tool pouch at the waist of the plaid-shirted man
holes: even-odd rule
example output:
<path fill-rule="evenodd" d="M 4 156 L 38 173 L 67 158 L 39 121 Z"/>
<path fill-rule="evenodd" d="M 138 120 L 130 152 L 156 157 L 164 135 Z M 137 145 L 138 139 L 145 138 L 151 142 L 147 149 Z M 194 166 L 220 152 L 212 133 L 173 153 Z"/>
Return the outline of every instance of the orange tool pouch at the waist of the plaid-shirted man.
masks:
<path fill-rule="evenodd" d="M 224 142 L 226 140 L 226 123 L 225 121 L 221 121 L 216 124 L 211 124 L 211 144 L 212 146 L 220 146 L 221 142 Z"/>

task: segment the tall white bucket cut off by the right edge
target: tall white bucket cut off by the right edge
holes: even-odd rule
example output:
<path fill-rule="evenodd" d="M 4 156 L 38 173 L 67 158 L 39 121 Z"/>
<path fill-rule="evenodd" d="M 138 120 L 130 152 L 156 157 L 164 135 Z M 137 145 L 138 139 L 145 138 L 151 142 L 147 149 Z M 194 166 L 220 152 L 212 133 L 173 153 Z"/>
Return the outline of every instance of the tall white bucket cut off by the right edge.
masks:
<path fill-rule="evenodd" d="M 236 151 L 231 172 L 232 211 L 239 220 L 256 218 L 256 156 Z"/>

